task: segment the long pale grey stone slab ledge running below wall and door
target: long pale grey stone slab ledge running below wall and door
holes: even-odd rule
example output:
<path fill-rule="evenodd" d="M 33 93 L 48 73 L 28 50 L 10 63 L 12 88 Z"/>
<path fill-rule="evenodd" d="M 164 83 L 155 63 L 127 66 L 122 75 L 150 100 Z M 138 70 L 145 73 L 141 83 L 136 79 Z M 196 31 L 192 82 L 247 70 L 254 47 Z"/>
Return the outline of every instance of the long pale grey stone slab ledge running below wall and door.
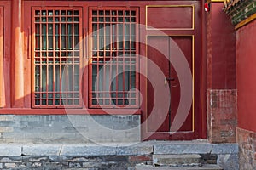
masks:
<path fill-rule="evenodd" d="M 1 144 L 0 156 L 131 156 L 150 154 L 238 154 L 238 144 Z"/>

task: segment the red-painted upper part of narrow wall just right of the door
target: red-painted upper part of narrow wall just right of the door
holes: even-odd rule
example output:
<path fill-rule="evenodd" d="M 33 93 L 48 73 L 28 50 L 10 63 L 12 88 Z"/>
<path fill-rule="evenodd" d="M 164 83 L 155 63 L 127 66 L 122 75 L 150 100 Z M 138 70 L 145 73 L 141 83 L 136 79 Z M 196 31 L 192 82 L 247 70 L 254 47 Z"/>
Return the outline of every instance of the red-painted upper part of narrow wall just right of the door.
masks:
<path fill-rule="evenodd" d="M 236 89 L 236 31 L 223 8 L 212 3 L 207 14 L 207 87 Z"/>

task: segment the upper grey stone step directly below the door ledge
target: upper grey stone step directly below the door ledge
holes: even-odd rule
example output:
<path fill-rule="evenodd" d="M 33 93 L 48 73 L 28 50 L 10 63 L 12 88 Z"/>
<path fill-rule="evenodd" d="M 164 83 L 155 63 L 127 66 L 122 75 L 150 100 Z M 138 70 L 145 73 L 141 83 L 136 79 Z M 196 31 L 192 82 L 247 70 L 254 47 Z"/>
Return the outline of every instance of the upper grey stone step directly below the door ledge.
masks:
<path fill-rule="evenodd" d="M 153 165 L 159 167 L 200 167 L 198 154 L 153 155 Z"/>

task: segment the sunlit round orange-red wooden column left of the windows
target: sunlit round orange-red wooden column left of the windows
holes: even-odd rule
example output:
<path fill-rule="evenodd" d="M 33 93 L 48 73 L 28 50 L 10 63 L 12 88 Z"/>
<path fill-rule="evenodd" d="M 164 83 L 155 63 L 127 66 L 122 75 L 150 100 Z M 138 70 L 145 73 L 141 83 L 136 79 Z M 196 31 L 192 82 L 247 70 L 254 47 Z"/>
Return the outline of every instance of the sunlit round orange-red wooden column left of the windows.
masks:
<path fill-rule="evenodd" d="M 21 34 L 21 0 L 12 1 L 12 106 L 24 105 L 24 66 Z"/>

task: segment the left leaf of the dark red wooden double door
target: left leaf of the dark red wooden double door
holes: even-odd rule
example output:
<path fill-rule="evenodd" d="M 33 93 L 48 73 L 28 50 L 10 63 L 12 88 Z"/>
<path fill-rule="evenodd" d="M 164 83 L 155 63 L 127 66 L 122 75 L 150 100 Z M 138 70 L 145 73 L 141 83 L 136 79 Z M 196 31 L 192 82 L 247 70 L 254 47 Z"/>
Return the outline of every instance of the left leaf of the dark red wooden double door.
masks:
<path fill-rule="evenodd" d="M 165 77 L 169 77 L 169 55 L 168 37 L 148 37 L 148 131 L 149 132 L 167 132 L 169 129 L 169 114 L 166 112 L 166 102 L 168 99 L 157 99 L 156 93 L 159 91 L 169 92 L 169 85 L 165 84 L 164 77 L 160 82 L 155 80 L 160 77 L 160 73 L 156 70 L 159 68 Z M 154 47 L 154 48 L 153 48 Z M 160 88 L 156 88 L 156 82 Z M 153 108 L 154 109 L 153 111 Z M 169 108 L 167 108 L 169 110 Z"/>

